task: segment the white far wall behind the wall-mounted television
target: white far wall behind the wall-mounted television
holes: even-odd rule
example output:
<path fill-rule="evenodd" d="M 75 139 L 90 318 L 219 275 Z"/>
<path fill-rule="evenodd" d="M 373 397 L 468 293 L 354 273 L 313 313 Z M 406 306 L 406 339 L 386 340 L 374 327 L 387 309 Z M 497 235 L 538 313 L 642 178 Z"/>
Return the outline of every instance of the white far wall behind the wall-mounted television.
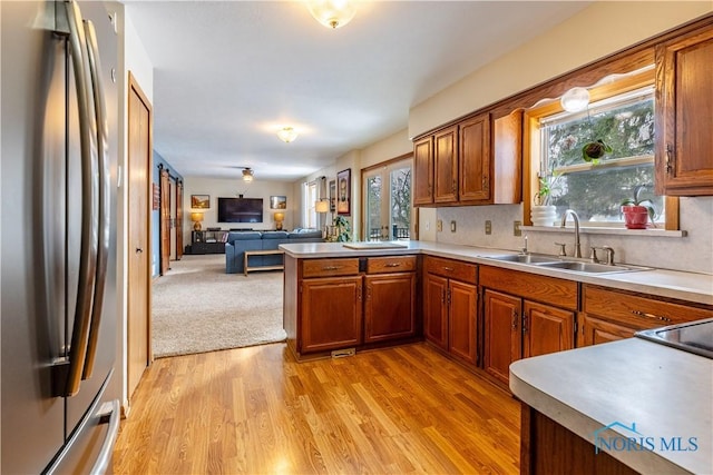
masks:
<path fill-rule="evenodd" d="M 222 229 L 233 228 L 252 228 L 252 229 L 275 229 L 274 214 L 276 209 L 270 209 L 271 196 L 286 196 L 287 209 L 280 211 L 285 214 L 285 220 L 282 224 L 283 229 L 289 230 L 296 227 L 300 221 L 300 202 L 295 199 L 294 188 L 290 181 L 265 181 L 258 177 L 251 184 L 244 182 L 242 179 L 219 179 L 205 177 L 183 177 L 184 178 L 184 237 L 185 245 L 191 244 L 191 231 L 193 222 L 191 221 L 191 195 L 209 195 L 211 208 L 196 209 L 203 212 L 203 229 L 207 227 L 219 227 Z M 262 198 L 263 199 L 263 222 L 218 222 L 217 198 L 228 197 L 236 198 L 243 195 L 244 198 Z"/>

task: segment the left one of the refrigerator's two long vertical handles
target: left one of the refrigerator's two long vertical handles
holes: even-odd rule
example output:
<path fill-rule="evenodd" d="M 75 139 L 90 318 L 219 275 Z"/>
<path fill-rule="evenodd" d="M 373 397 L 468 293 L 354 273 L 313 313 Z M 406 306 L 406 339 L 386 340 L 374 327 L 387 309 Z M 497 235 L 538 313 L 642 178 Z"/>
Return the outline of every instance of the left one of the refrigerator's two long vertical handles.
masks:
<path fill-rule="evenodd" d="M 89 113 L 89 96 L 87 75 L 89 73 L 87 59 L 87 40 L 82 27 L 81 12 L 72 0 L 64 1 L 58 7 L 59 18 L 69 27 L 68 42 L 71 51 L 72 67 L 75 71 L 75 85 L 77 87 L 77 105 L 79 108 L 79 145 L 81 149 L 81 245 L 79 251 L 79 277 L 77 281 L 77 305 L 75 308 L 74 327 L 69 357 L 53 366 L 53 386 L 57 396 L 74 396 L 79 390 L 81 375 L 87 355 L 89 334 L 89 319 L 94 298 L 96 279 L 96 258 L 98 222 L 95 206 L 98 194 L 97 167 L 92 158 L 95 138 L 91 135 L 94 117 Z"/>

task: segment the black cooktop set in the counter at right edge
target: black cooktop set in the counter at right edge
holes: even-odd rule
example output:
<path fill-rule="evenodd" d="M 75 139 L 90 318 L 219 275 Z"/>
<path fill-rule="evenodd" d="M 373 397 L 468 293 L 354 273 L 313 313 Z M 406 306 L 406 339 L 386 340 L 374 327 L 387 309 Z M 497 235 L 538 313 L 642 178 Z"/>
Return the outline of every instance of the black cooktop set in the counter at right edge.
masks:
<path fill-rule="evenodd" d="M 713 359 L 713 318 L 643 330 L 636 336 Z"/>

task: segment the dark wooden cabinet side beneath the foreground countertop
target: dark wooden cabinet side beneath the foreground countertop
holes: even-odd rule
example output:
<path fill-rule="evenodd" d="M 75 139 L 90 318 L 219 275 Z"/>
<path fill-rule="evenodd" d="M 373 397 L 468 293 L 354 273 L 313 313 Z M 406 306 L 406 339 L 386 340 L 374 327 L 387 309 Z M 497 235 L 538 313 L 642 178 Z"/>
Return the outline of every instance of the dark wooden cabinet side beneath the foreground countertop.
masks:
<path fill-rule="evenodd" d="M 636 473 L 609 454 L 595 453 L 590 442 L 521 403 L 520 474 L 629 475 Z"/>

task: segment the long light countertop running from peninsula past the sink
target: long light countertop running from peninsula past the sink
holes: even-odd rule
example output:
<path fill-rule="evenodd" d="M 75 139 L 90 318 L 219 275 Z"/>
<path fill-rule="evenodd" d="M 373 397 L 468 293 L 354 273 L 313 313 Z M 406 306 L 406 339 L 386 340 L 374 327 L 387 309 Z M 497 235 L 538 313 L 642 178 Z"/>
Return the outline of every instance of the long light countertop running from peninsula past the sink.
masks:
<path fill-rule="evenodd" d="M 280 248 L 299 259 L 325 257 L 394 256 L 426 254 L 470 263 L 485 264 L 543 276 L 558 277 L 586 284 L 638 291 L 660 297 L 713 305 L 713 275 L 683 273 L 677 270 L 649 269 L 619 274 L 579 274 L 561 269 L 529 266 L 489 259 L 488 256 L 517 254 L 512 250 L 485 247 L 458 246 L 430 241 L 398 241 L 395 248 L 351 249 L 344 243 L 283 244 Z"/>

